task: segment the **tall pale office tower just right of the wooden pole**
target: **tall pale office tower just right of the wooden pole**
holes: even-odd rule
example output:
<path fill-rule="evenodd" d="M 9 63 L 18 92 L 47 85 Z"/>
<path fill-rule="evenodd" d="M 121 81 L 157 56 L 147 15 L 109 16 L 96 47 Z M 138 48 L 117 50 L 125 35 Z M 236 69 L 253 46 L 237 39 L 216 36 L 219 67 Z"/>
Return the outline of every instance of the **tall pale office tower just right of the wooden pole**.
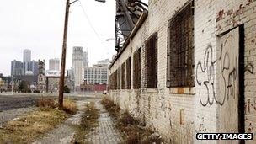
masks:
<path fill-rule="evenodd" d="M 74 75 L 74 86 L 75 89 L 80 88 L 80 84 L 83 83 L 83 47 L 75 46 L 73 47 L 73 53 L 72 53 L 72 70 Z"/>

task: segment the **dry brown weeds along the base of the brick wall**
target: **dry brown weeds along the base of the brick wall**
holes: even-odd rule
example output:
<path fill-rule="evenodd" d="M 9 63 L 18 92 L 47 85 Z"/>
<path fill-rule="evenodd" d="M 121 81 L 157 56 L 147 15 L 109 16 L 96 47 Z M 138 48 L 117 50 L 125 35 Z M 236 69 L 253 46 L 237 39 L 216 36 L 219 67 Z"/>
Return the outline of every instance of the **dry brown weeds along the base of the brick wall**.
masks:
<path fill-rule="evenodd" d="M 120 114 L 120 107 L 111 100 L 104 98 L 101 101 L 104 108 L 116 119 L 116 127 L 123 134 L 123 143 L 151 144 L 162 143 L 161 138 L 152 138 L 153 131 L 149 128 L 141 129 L 139 120 L 135 120 L 128 112 Z"/>

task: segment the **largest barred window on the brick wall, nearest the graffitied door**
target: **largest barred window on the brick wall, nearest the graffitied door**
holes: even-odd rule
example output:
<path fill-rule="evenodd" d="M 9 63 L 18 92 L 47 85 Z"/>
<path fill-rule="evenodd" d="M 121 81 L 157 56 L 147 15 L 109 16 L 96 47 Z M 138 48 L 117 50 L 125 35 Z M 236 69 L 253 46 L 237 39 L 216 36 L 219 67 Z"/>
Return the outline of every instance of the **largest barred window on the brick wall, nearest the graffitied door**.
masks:
<path fill-rule="evenodd" d="M 167 87 L 193 87 L 194 14 L 189 3 L 168 22 Z"/>

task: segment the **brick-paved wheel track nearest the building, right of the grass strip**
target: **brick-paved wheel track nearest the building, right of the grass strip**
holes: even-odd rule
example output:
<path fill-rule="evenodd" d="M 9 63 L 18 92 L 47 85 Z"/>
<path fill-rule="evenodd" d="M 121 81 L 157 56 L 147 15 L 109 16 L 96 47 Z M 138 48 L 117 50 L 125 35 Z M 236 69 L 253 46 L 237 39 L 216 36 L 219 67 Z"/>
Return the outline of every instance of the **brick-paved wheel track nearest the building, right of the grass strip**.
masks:
<path fill-rule="evenodd" d="M 109 113 L 103 108 L 99 101 L 95 102 L 99 109 L 99 126 L 89 133 L 88 141 L 93 144 L 118 144 L 121 143 L 121 136 L 115 129 L 114 121 Z"/>

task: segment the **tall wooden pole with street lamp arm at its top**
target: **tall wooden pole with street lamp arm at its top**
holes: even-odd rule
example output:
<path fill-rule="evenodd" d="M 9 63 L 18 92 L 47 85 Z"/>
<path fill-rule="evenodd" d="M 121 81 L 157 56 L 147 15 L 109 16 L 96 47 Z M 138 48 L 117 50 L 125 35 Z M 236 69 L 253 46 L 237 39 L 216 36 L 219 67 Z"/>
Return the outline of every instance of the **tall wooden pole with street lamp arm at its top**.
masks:
<path fill-rule="evenodd" d="M 76 3 L 78 0 L 74 0 L 72 3 Z M 97 2 L 105 3 L 105 0 L 95 0 Z M 62 44 L 62 55 L 61 55 L 61 77 L 60 77 L 60 90 L 59 90 L 59 109 L 63 109 L 63 93 L 65 83 L 65 65 L 66 65 L 66 51 L 67 51 L 67 24 L 69 17 L 70 0 L 66 3 L 65 23 L 64 23 L 64 35 Z"/>

